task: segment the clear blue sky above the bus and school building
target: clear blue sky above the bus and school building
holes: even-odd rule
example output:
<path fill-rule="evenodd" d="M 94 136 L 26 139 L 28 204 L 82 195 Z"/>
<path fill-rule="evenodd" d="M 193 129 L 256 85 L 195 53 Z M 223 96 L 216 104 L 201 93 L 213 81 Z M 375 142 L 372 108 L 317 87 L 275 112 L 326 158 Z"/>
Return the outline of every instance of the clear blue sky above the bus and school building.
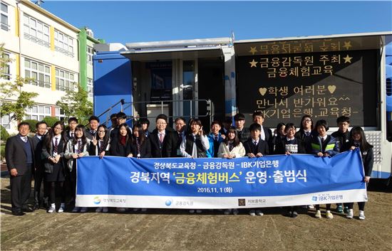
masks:
<path fill-rule="evenodd" d="M 282 38 L 392 31 L 392 1 L 49 1 L 107 43 Z"/>

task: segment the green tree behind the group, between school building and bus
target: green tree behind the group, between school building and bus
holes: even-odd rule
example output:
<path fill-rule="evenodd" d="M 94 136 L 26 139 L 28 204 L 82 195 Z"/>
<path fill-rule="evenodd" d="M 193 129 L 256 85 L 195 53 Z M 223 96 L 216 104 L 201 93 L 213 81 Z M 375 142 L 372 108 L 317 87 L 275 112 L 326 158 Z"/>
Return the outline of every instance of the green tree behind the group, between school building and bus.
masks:
<path fill-rule="evenodd" d="M 74 90 L 66 90 L 66 95 L 56 102 L 61 107 L 66 119 L 69 117 L 77 117 L 79 124 L 87 124 L 88 117 L 93 114 L 93 103 L 88 101 L 86 90 L 78 85 L 78 92 Z"/>

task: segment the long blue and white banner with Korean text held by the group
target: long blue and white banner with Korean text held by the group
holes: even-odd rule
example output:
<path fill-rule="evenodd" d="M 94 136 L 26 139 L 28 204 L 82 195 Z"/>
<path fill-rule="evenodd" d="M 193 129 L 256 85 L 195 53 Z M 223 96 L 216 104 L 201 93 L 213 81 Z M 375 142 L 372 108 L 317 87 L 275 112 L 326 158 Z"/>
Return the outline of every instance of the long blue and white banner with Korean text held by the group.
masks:
<path fill-rule="evenodd" d="M 366 201 L 358 150 L 238 159 L 77 161 L 79 206 L 252 208 Z"/>

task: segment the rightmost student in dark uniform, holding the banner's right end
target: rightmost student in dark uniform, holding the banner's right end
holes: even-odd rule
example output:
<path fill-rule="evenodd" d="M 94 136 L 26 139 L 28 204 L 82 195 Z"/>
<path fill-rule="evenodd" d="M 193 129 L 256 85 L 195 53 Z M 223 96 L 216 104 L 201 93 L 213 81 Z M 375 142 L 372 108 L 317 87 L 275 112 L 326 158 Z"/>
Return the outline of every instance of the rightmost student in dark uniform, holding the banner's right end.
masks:
<path fill-rule="evenodd" d="M 373 161 L 374 161 L 374 153 L 373 146 L 368 143 L 366 140 L 365 132 L 361 127 L 353 127 L 350 131 L 349 141 L 346 142 L 341 151 L 351 151 L 356 148 L 361 150 L 361 157 L 363 163 L 363 171 L 365 177 L 363 178 L 363 182 L 366 182 L 366 186 L 370 181 L 371 171 L 373 171 Z M 349 210 L 347 211 L 346 218 L 352 219 L 354 217 L 354 203 L 347 203 Z M 365 220 L 365 201 L 358 203 L 359 208 L 359 220 Z"/>

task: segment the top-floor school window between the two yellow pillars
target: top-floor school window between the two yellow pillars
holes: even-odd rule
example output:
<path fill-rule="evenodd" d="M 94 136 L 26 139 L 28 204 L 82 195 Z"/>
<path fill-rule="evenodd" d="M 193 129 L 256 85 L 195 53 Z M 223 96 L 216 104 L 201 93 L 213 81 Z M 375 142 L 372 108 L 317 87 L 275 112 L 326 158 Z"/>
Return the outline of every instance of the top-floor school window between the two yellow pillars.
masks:
<path fill-rule="evenodd" d="M 42 46 L 50 47 L 49 26 L 24 14 L 24 38 Z"/>

